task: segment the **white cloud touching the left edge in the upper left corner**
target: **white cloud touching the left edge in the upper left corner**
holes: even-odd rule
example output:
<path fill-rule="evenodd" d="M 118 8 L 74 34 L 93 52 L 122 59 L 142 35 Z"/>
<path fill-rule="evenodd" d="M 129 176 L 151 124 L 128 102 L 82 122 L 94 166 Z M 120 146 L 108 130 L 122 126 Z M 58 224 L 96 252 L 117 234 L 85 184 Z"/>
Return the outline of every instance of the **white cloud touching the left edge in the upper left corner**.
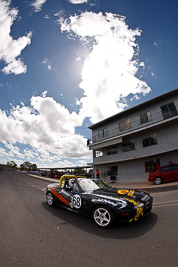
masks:
<path fill-rule="evenodd" d="M 0 1 L 0 60 L 7 64 L 3 68 L 5 74 L 25 73 L 27 67 L 18 58 L 22 50 L 31 43 L 32 33 L 19 37 L 15 40 L 11 35 L 11 26 L 16 20 L 18 10 L 10 8 L 10 1 Z"/>

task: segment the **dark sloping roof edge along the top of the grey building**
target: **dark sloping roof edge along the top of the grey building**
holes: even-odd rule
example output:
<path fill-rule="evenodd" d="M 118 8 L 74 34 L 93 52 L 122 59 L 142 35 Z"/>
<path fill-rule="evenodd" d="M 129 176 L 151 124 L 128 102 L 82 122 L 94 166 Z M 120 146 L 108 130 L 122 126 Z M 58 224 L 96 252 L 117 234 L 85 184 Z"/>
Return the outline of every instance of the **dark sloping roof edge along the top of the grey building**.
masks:
<path fill-rule="evenodd" d="M 178 94 L 178 88 L 176 88 L 176 89 L 174 89 L 172 91 L 169 91 L 169 92 L 167 92 L 165 94 L 162 94 L 162 95 L 159 95 L 157 97 L 154 97 L 154 98 L 152 98 L 152 99 L 150 99 L 148 101 L 145 101 L 145 102 L 143 102 L 143 103 L 141 103 L 139 105 L 136 105 L 134 107 L 128 108 L 128 109 L 126 109 L 126 110 L 124 110 L 122 112 L 119 112 L 119 113 L 117 113 L 117 114 L 115 114 L 115 115 L 113 115 L 111 117 L 108 117 L 108 118 L 106 118 L 106 119 L 104 119 L 104 120 L 102 120 L 100 122 L 97 122 L 97 123 L 89 126 L 88 128 L 93 130 L 93 129 L 97 128 L 97 127 L 100 127 L 100 126 L 105 125 L 105 124 L 107 124 L 109 122 L 112 122 L 113 120 L 119 119 L 122 116 L 125 116 L 125 115 L 127 115 L 127 114 L 129 114 L 129 113 L 131 113 L 133 111 L 139 110 L 139 109 L 143 108 L 143 106 L 144 107 L 145 106 L 149 106 L 150 104 L 153 104 L 153 103 L 158 102 L 160 100 L 168 99 L 169 97 L 171 97 L 171 96 L 173 96 L 175 94 Z"/>

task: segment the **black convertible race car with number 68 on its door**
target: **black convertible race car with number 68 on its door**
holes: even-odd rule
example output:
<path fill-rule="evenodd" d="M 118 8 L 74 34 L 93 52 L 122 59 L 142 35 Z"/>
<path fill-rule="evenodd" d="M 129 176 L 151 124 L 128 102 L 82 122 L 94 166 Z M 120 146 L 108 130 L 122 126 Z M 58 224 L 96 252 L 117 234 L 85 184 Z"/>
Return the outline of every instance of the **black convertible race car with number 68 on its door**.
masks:
<path fill-rule="evenodd" d="M 99 179 L 63 175 L 59 183 L 46 188 L 46 201 L 49 206 L 61 206 L 93 217 L 102 227 L 119 221 L 137 221 L 152 209 L 152 196 L 143 191 L 116 189 Z"/>

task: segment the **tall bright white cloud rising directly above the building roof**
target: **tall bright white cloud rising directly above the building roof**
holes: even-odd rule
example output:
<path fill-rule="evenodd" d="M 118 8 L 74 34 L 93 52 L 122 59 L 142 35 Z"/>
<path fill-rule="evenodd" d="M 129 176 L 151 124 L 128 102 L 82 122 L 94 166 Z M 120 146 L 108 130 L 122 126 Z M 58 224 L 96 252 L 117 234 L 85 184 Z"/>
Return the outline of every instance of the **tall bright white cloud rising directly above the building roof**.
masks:
<path fill-rule="evenodd" d="M 98 122 L 123 110 L 130 94 L 133 97 L 150 92 L 146 82 L 136 77 L 138 69 L 144 66 L 136 60 L 139 53 L 136 38 L 141 31 L 130 29 L 125 17 L 84 12 L 68 19 L 60 18 L 59 24 L 61 32 L 90 44 L 79 84 L 84 97 L 77 101 L 82 118 L 90 117 L 91 122 Z"/>

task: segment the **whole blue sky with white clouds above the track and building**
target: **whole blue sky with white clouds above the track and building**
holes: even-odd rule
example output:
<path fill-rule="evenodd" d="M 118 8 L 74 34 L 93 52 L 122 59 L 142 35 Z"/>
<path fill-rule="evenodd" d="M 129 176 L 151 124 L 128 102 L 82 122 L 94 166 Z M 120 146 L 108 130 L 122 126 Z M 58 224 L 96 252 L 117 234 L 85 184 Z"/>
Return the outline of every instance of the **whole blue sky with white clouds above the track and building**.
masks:
<path fill-rule="evenodd" d="M 176 0 L 0 0 L 0 163 L 83 166 L 93 123 L 177 88 Z"/>

